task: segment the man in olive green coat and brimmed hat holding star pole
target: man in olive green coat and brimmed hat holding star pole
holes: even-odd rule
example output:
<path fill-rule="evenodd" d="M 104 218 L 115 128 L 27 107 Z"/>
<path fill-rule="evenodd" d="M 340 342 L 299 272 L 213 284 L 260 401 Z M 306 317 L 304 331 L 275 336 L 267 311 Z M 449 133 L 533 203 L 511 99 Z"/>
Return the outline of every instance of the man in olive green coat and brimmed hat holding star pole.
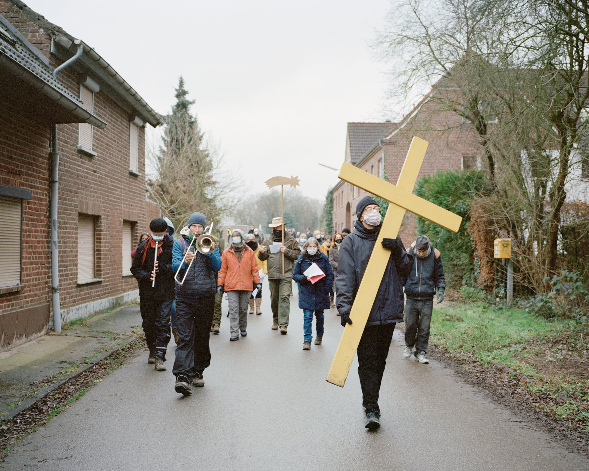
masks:
<path fill-rule="evenodd" d="M 289 325 L 290 291 L 293 282 L 294 262 L 300 255 L 299 243 L 286 232 L 282 218 L 275 217 L 269 227 L 272 234 L 260 245 L 258 258 L 268 261 L 268 282 L 270 284 L 270 301 L 272 303 L 272 330 L 280 327 L 280 333 L 286 334 Z M 282 242 L 284 233 L 284 246 L 280 251 L 270 253 L 270 246 Z M 282 274 L 282 254 L 284 254 L 284 274 Z"/>

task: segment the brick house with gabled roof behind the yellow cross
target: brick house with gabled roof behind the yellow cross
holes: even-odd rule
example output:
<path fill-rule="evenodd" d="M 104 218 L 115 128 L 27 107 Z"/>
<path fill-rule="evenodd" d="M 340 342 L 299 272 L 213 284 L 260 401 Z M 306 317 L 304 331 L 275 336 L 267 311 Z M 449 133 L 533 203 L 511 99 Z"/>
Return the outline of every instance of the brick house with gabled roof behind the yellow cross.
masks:
<path fill-rule="evenodd" d="M 429 142 L 419 177 L 439 170 L 466 170 L 479 167 L 481 154 L 472 125 L 454 111 L 441 111 L 430 92 L 398 123 L 348 123 L 345 161 L 395 184 L 413 136 Z M 379 132 L 379 135 L 376 133 Z M 333 187 L 333 228 L 353 228 L 356 204 L 369 195 L 342 180 Z M 416 237 L 415 215 L 407 212 L 401 226 L 406 246 Z"/>

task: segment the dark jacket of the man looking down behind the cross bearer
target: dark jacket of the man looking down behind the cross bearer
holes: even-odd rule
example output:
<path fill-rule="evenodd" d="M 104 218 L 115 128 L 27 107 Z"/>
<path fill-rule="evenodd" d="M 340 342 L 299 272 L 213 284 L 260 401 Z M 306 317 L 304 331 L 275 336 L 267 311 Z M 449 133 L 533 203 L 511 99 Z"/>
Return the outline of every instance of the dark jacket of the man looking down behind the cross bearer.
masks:
<path fill-rule="evenodd" d="M 409 254 L 413 255 L 413 266 L 408 277 L 403 278 L 405 294 L 411 299 L 432 299 L 436 288 L 446 288 L 442 257 L 437 249 L 429 243 L 431 253 L 425 258 L 419 258 L 413 253 L 413 244 Z"/>

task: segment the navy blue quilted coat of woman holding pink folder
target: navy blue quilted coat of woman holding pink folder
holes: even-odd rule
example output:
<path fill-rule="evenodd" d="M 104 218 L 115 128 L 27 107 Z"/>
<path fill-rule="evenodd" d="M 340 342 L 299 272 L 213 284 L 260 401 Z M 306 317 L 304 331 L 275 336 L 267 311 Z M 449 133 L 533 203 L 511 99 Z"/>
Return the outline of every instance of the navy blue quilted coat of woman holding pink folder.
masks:
<path fill-rule="evenodd" d="M 317 266 L 325 273 L 315 284 L 312 284 L 307 277 L 303 275 L 305 270 L 316 263 Z M 308 254 L 300 254 L 294 264 L 293 280 L 299 284 L 299 307 L 300 309 L 309 309 L 315 311 L 318 309 L 330 309 L 329 291 L 333 286 L 333 270 L 327 256 L 321 251 L 317 251 L 315 257 L 309 257 Z"/>

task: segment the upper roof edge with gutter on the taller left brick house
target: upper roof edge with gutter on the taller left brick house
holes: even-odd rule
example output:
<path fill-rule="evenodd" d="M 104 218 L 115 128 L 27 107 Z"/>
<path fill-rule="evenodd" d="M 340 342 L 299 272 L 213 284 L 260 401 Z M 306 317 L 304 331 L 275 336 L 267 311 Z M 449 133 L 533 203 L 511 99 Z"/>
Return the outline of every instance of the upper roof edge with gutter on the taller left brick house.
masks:
<path fill-rule="evenodd" d="M 38 14 L 29 8 L 21 0 L 10 0 L 16 8 L 20 9 L 32 22 L 41 26 L 46 32 L 51 32 L 52 41 L 51 52 L 56 54 L 64 62 L 73 57 L 77 51 L 74 41 L 77 38 L 72 37 L 58 25 L 48 21 L 44 16 Z M 90 47 L 84 41 L 81 41 L 84 53 L 78 61 L 72 64 L 74 69 L 82 68 L 84 73 L 90 72 L 91 75 L 100 78 L 100 80 L 110 89 L 109 95 L 116 99 L 118 104 L 125 108 L 130 114 L 141 117 L 144 122 L 149 122 L 153 127 L 158 124 L 164 124 L 163 118 L 145 102 L 141 95 L 135 91 L 130 84 L 121 77 L 114 68 L 98 54 L 94 48 Z"/>

